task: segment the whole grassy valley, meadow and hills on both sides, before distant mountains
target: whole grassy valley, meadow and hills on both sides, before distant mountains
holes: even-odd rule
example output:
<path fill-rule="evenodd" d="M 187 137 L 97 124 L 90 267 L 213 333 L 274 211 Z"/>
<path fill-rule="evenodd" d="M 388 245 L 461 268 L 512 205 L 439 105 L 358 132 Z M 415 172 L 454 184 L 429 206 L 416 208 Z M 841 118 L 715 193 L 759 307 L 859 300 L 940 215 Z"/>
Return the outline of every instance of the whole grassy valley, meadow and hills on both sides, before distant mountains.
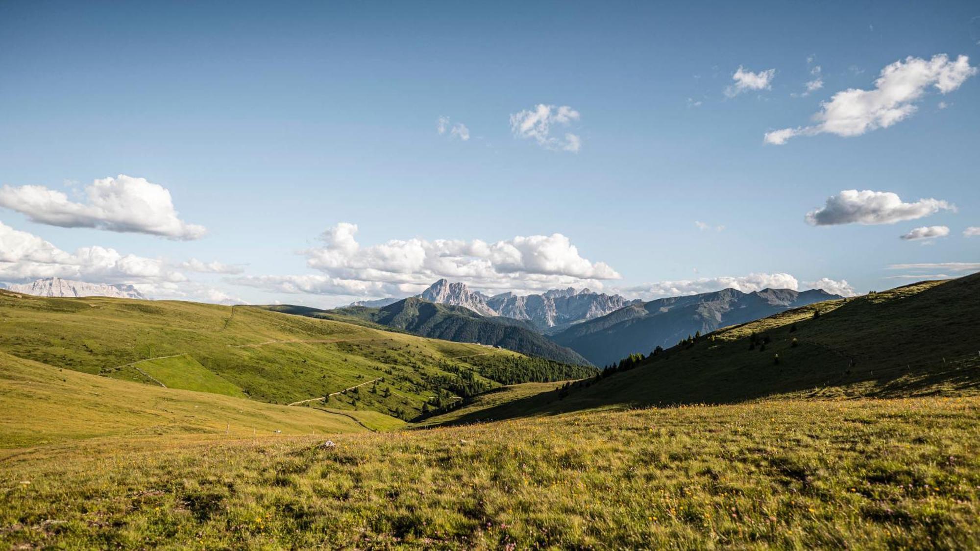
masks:
<path fill-rule="evenodd" d="M 0 291 L 0 542 L 980 542 L 980 276 L 794 300 L 597 372 L 384 308 Z"/>

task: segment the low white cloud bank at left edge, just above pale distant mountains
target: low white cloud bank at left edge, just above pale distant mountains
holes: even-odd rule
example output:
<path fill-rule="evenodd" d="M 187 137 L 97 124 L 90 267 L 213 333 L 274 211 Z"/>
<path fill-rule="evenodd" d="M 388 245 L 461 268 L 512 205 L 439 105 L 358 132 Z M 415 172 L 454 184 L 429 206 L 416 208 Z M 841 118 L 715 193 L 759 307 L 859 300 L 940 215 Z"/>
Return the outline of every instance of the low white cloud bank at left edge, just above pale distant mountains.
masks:
<path fill-rule="evenodd" d="M 73 253 L 44 239 L 0 223 L 0 280 L 27 281 L 65 277 L 92 282 L 180 282 L 186 276 L 159 259 L 123 255 L 115 249 L 91 246 Z"/>

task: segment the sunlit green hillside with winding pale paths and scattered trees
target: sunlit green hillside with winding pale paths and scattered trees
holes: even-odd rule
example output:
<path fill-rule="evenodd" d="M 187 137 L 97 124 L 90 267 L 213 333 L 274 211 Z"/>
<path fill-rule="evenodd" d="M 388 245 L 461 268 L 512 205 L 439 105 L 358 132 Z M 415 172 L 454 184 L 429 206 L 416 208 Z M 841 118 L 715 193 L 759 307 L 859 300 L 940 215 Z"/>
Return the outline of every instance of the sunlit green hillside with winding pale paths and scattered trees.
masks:
<path fill-rule="evenodd" d="M 541 379 L 537 360 L 508 350 L 258 307 L 0 291 L 0 329 L 0 352 L 57 368 L 277 404 L 339 392 L 319 405 L 405 420 L 512 376 Z"/>

